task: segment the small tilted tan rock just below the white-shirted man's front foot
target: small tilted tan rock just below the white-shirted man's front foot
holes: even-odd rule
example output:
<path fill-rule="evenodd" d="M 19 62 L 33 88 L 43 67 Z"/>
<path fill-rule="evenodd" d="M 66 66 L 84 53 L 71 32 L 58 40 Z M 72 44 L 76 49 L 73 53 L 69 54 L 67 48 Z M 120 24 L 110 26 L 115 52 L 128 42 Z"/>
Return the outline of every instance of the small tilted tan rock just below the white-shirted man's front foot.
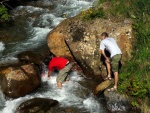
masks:
<path fill-rule="evenodd" d="M 95 89 L 95 94 L 100 94 L 102 91 L 104 91 L 105 89 L 107 89 L 109 86 L 113 85 L 114 83 L 114 79 L 110 80 L 106 80 L 102 83 L 100 83 L 96 89 Z"/>

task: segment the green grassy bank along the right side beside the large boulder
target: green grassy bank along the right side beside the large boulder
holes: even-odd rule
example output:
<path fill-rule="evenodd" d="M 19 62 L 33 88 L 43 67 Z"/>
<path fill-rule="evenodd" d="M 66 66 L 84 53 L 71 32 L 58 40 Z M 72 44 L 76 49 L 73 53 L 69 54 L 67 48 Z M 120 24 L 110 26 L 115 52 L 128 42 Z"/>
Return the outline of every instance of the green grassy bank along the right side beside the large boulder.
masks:
<path fill-rule="evenodd" d="M 131 18 L 136 42 L 132 58 L 126 62 L 119 75 L 119 91 L 133 100 L 148 97 L 150 102 L 150 0 L 99 0 L 96 7 L 82 12 L 82 18 Z M 107 7 L 108 6 L 108 7 Z M 91 11 L 92 10 L 92 11 Z M 132 102 L 136 105 L 136 102 Z M 140 102 L 139 102 L 140 103 Z"/>

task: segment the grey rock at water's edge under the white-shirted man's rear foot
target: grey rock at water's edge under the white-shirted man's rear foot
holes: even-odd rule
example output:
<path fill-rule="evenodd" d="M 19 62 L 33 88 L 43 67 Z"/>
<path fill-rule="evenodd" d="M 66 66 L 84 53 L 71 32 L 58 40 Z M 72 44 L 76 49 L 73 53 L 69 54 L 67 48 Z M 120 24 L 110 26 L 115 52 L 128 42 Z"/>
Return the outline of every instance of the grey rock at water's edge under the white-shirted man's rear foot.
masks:
<path fill-rule="evenodd" d="M 125 112 L 131 108 L 129 99 L 125 95 L 105 90 L 104 96 L 107 101 L 107 107 L 112 112 Z"/>

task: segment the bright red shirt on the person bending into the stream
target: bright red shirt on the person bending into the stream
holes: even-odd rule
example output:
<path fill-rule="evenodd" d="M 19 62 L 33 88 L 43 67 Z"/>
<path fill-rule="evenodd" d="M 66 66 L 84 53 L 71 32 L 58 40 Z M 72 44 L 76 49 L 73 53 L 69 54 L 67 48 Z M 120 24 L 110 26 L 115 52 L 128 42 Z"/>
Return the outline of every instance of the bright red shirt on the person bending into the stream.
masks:
<path fill-rule="evenodd" d="M 69 62 L 69 60 L 62 58 L 62 57 L 54 57 L 49 62 L 48 69 L 52 71 L 53 69 L 61 70 L 63 69 L 66 64 Z"/>

